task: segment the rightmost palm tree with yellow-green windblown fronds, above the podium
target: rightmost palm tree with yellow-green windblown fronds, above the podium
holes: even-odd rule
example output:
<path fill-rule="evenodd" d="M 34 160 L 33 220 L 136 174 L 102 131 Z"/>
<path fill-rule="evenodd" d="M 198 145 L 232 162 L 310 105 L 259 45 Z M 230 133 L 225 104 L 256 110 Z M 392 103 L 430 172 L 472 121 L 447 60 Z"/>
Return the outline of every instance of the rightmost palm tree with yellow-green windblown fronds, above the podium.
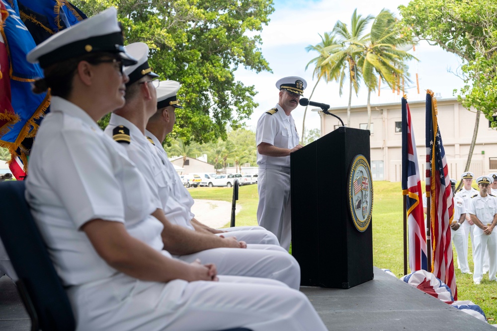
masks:
<path fill-rule="evenodd" d="M 382 9 L 376 16 L 369 35 L 369 40 L 365 43 L 354 42 L 357 47 L 362 49 L 362 56 L 358 59 L 357 66 L 360 68 L 364 83 L 368 88 L 367 130 L 371 125 L 371 91 L 376 90 L 379 79 L 386 82 L 391 88 L 399 86 L 401 79 L 410 81 L 405 61 L 415 59 L 406 51 L 398 49 L 404 46 L 407 41 L 401 37 L 400 31 L 396 28 L 396 19 L 390 10 Z"/>

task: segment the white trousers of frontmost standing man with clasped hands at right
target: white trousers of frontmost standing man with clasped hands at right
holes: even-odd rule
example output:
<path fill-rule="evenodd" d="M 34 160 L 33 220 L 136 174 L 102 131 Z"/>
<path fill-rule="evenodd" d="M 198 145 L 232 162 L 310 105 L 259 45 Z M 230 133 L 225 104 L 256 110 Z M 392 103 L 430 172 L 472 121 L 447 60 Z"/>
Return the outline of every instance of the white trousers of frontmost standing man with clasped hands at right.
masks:
<path fill-rule="evenodd" d="M 497 265 L 496 265 L 496 249 L 497 249 L 497 231 L 492 231 L 490 236 L 483 233 L 483 230 L 475 226 L 473 231 L 473 238 L 475 239 L 475 252 L 473 257 L 475 260 L 475 271 L 473 273 L 474 281 L 481 281 L 483 277 L 483 263 L 485 250 L 489 249 L 490 257 L 490 270 L 489 279 L 497 281 Z"/>

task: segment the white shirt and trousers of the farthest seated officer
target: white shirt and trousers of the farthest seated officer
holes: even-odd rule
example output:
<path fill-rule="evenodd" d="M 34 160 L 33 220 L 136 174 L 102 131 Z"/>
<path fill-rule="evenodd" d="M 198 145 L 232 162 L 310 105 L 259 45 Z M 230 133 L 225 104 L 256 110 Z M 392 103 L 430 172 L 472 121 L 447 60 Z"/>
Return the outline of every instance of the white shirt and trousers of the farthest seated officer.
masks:
<path fill-rule="evenodd" d="M 190 193 L 188 193 L 188 190 L 181 183 L 181 178 L 179 178 L 174 166 L 171 161 L 169 161 L 167 153 L 162 147 L 162 143 L 159 139 L 149 131 L 145 131 L 145 135 L 154 141 L 157 155 L 164 165 L 164 170 L 168 178 L 169 199 L 174 199 L 175 202 L 177 202 L 175 204 L 170 201 L 168 206 L 165 206 L 164 213 L 166 214 L 167 219 L 175 224 L 193 229 L 191 219 L 195 217 L 195 214 L 191 212 L 191 207 L 193 206 L 194 201 Z M 186 212 L 183 211 L 183 208 L 186 209 Z M 247 244 L 279 245 L 276 236 L 260 226 L 235 226 L 220 230 L 227 232 L 219 233 L 217 234 L 218 236 L 236 237 L 239 241 L 245 241 Z"/>

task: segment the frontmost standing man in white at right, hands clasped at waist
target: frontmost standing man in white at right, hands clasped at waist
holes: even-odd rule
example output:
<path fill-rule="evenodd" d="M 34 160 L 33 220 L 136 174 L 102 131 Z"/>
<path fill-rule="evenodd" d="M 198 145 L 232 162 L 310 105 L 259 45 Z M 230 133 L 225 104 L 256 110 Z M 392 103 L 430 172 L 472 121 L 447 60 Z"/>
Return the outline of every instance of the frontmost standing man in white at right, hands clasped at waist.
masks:
<path fill-rule="evenodd" d="M 475 252 L 473 253 L 475 271 L 473 281 L 475 284 L 480 284 L 482 281 L 484 253 L 487 247 L 490 257 L 489 279 L 497 281 L 497 233 L 493 231 L 497 224 L 497 199 L 487 193 L 492 180 L 488 176 L 477 178 L 476 182 L 478 183 L 480 193 L 471 198 L 470 207 L 468 208 L 471 220 L 475 223 L 473 234 L 475 238 Z"/>

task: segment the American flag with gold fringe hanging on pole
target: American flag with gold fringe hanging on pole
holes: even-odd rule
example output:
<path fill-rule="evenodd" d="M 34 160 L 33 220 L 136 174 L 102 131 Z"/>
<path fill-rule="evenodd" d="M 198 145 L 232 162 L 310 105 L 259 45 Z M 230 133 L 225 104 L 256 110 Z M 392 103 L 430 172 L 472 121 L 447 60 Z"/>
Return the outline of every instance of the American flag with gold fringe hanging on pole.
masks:
<path fill-rule="evenodd" d="M 437 123 L 436 99 L 434 93 L 426 91 L 426 160 L 430 171 L 426 170 L 426 183 L 429 180 L 431 242 L 433 257 L 431 272 L 447 284 L 457 300 L 454 260 L 450 243 L 450 223 L 454 216 L 454 203 L 450 187 L 449 170 L 445 159 L 442 136 Z"/>

